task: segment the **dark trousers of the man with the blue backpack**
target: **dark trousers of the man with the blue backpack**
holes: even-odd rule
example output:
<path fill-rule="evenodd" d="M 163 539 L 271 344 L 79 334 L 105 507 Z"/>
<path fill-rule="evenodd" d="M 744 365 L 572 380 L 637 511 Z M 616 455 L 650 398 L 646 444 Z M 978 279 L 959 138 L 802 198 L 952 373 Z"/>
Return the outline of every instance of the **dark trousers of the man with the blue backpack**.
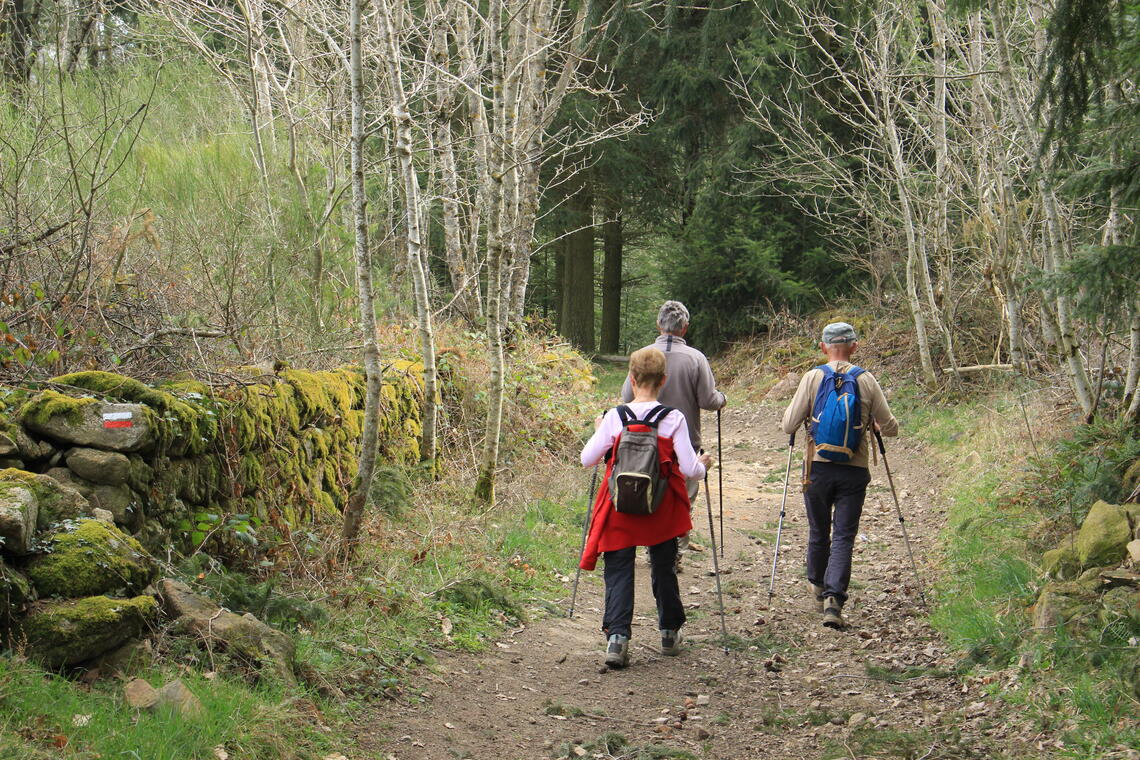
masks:
<path fill-rule="evenodd" d="M 863 515 L 871 472 L 866 467 L 812 463 L 812 484 L 804 492 L 807 507 L 807 580 L 823 587 L 824 596 L 847 600 L 852 579 L 852 549 Z"/>

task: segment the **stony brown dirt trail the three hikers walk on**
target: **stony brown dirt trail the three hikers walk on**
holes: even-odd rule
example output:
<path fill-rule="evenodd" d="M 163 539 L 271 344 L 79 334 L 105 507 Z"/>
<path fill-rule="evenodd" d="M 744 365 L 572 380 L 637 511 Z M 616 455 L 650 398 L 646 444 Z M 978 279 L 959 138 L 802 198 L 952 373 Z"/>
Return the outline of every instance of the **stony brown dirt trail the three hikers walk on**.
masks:
<path fill-rule="evenodd" d="M 720 648 L 710 551 L 689 555 L 681 577 L 690 621 L 679 657 L 659 652 L 649 567 L 638 558 L 633 662 L 605 671 L 600 563 L 597 572 L 583 574 L 572 620 L 538 620 L 478 657 L 440 655 L 437 673 L 426 676 L 431 697 L 383 705 L 361 720 L 360 741 L 376 757 L 398 760 L 538 760 L 568 751 L 570 758 L 610 758 L 650 744 L 724 760 L 1040 755 L 1036 742 L 1026 745 L 1002 708 L 985 697 L 980 679 L 947 677 L 955 656 L 919 606 L 881 464 L 872 472 L 856 540 L 845 610 L 849 628 L 823 628 L 808 608 L 797 466 L 776 594 L 767 607 L 787 465 L 780 411 L 755 404 L 724 414 L 720 565 L 733 643 L 728 655 Z M 707 415 L 703 428 L 715 443 L 715 417 Z M 926 556 L 945 522 L 939 477 L 915 444 L 888 443 L 919 570 L 929 585 Z M 714 480 L 715 472 L 716 513 Z M 703 493 L 694 523 L 708 545 Z M 596 741 L 608 733 L 620 734 L 629 746 L 602 751 Z"/>

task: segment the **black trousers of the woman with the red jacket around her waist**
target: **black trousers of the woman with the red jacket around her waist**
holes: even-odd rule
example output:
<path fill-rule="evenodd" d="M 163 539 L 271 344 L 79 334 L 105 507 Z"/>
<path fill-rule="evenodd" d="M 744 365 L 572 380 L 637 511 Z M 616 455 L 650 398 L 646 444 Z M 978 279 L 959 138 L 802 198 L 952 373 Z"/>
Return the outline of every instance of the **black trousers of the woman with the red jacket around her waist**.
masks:
<path fill-rule="evenodd" d="M 634 559 L 637 547 L 604 551 L 605 614 L 602 631 L 606 636 L 629 636 L 634 620 Z M 677 539 L 670 538 L 649 547 L 650 583 L 657 600 L 657 623 L 660 629 L 677 630 L 685 623 L 685 607 L 677 585 Z"/>

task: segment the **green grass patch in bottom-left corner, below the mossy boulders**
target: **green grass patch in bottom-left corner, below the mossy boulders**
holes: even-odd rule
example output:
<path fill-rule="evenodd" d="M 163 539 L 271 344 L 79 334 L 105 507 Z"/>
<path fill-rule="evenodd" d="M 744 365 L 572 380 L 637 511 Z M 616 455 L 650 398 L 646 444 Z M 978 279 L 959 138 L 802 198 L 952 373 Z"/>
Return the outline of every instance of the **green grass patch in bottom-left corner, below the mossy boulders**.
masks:
<path fill-rule="evenodd" d="M 0 757 L 188 760 L 214 758 L 214 747 L 225 747 L 230 757 L 291 760 L 320 758 L 331 749 L 278 690 L 185 672 L 154 670 L 142 677 L 156 687 L 181 678 L 202 701 L 202 716 L 140 712 L 123 702 L 119 681 L 89 688 L 0 657 Z"/>

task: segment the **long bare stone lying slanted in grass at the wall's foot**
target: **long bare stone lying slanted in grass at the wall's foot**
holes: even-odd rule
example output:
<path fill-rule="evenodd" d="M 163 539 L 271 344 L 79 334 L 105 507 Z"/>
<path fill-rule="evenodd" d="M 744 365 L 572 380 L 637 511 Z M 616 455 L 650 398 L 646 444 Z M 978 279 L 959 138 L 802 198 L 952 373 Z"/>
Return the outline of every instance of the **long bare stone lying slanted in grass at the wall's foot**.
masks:
<path fill-rule="evenodd" d="M 186 583 L 164 579 L 158 583 L 163 608 L 185 630 L 207 643 L 221 644 L 231 654 L 268 669 L 287 684 L 294 683 L 296 646 L 286 634 L 270 628 L 252 614 L 238 615 L 198 596 Z"/>

